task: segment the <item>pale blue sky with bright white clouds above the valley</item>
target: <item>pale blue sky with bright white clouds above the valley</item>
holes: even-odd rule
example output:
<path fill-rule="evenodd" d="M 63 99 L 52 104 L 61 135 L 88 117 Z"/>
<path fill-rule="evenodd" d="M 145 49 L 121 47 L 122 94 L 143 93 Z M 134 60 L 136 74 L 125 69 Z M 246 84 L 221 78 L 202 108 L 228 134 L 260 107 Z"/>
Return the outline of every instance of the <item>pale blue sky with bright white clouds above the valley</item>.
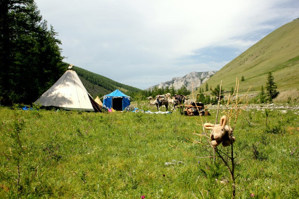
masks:
<path fill-rule="evenodd" d="M 298 0 L 36 0 L 65 62 L 146 89 L 220 70 L 299 17 Z"/>

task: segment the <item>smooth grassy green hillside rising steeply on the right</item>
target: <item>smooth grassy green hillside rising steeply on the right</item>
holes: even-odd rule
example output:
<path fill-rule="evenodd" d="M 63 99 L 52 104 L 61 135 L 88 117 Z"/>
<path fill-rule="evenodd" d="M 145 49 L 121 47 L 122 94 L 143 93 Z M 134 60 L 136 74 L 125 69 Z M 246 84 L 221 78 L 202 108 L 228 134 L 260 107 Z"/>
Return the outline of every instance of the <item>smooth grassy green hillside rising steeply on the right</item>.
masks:
<path fill-rule="evenodd" d="M 278 91 L 298 88 L 298 36 L 299 20 L 283 25 L 226 64 L 206 83 L 215 88 L 222 80 L 223 89 L 230 91 L 238 78 L 240 92 L 251 85 L 251 92 L 260 92 L 261 86 L 266 86 L 267 73 L 272 72 Z M 245 81 L 241 81 L 242 76 Z M 201 87 L 205 88 L 205 84 Z"/>

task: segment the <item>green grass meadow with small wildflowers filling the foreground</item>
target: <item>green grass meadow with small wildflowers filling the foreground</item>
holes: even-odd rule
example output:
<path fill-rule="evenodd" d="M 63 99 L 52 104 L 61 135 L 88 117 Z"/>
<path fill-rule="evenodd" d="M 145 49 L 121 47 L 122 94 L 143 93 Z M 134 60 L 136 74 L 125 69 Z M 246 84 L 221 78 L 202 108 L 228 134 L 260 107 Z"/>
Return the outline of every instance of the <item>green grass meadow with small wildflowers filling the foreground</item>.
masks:
<path fill-rule="evenodd" d="M 203 122 L 214 123 L 210 113 Z M 299 198 L 298 114 L 239 116 L 236 198 Z M 198 116 L 7 107 L 0 116 L 0 198 L 231 198 L 222 160 L 194 157 L 213 155 L 189 141 L 205 139 L 193 135 L 203 133 Z"/>

